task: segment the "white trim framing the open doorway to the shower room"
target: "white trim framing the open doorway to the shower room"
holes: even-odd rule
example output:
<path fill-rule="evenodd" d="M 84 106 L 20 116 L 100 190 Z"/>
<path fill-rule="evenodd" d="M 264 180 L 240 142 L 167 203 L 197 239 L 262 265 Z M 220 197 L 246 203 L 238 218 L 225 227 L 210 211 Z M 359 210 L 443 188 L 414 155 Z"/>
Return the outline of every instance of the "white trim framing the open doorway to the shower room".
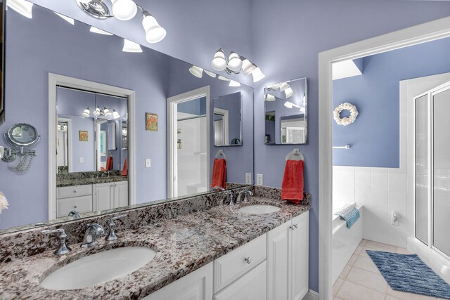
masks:
<path fill-rule="evenodd" d="M 319 53 L 319 298 L 332 299 L 332 63 L 450 37 L 450 17 Z"/>

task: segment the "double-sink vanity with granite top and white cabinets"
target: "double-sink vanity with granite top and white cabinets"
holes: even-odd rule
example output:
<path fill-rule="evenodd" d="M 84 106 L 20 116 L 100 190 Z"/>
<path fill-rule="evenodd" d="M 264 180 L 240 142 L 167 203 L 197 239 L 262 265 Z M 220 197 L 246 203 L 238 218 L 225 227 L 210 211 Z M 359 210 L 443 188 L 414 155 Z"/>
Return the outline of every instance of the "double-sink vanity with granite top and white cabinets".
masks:
<path fill-rule="evenodd" d="M 275 188 L 231 193 L 243 190 L 254 196 L 233 206 L 228 191 L 217 192 L 1 235 L 0 296 L 302 299 L 308 291 L 310 195 L 295 205 L 282 202 Z M 94 223 L 101 230 L 92 231 Z M 117 240 L 105 240 L 110 223 Z M 65 230 L 68 254 L 53 254 L 58 234 L 41 233 L 54 229 Z M 92 247 L 80 247 L 94 240 Z"/>

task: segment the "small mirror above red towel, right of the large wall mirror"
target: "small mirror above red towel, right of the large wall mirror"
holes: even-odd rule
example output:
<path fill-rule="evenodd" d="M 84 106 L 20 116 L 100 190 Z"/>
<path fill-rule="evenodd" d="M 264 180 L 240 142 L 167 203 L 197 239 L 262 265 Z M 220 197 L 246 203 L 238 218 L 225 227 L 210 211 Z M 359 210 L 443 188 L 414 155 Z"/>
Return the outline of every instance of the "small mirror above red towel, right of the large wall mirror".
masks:
<path fill-rule="evenodd" d="M 281 81 L 264 87 L 264 143 L 306 144 L 307 78 Z"/>

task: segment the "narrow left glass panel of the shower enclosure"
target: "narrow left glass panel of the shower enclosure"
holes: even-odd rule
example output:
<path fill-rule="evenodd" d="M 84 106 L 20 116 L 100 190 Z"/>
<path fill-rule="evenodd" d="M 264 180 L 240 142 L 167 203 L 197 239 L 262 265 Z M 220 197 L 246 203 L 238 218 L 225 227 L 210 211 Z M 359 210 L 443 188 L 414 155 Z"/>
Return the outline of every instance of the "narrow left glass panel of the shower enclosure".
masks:
<path fill-rule="evenodd" d="M 428 245 L 428 95 L 416 98 L 416 237 Z"/>

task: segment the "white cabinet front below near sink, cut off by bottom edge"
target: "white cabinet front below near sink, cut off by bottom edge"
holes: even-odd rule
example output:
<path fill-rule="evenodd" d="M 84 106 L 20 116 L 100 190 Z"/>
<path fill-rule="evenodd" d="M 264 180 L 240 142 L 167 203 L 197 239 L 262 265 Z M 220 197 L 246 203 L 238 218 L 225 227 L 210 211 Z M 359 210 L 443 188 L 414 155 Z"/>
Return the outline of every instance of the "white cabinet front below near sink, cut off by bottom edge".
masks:
<path fill-rule="evenodd" d="M 193 273 L 158 289 L 143 298 L 145 300 L 211 300 L 212 263 L 193 271 Z"/>

